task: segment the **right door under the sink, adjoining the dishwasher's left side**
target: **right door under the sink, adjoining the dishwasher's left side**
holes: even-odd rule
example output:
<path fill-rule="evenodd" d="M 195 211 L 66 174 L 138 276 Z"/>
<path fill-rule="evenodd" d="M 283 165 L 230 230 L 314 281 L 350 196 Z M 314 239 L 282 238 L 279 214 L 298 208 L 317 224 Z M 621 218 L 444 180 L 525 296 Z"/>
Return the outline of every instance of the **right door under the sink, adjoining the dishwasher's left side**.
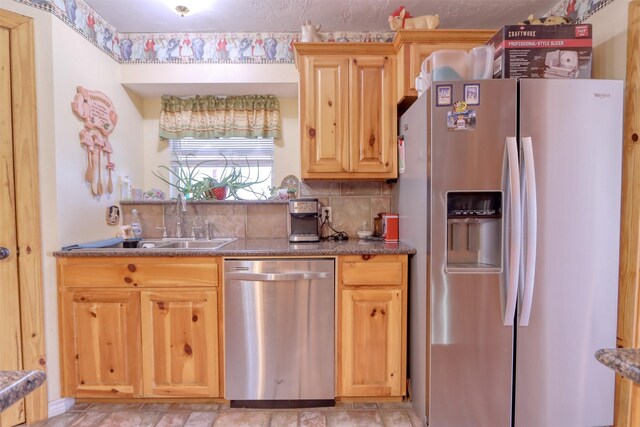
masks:
<path fill-rule="evenodd" d="M 220 395 L 216 289 L 142 292 L 145 397 Z"/>

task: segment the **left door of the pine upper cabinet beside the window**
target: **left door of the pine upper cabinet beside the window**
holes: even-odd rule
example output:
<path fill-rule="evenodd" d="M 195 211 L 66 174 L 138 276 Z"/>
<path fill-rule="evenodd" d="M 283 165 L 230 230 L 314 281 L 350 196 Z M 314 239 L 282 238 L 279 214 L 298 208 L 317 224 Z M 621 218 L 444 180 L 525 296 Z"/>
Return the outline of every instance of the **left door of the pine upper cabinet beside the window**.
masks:
<path fill-rule="evenodd" d="M 304 71 L 300 73 L 302 177 L 347 172 L 349 59 L 305 56 L 303 61 Z"/>

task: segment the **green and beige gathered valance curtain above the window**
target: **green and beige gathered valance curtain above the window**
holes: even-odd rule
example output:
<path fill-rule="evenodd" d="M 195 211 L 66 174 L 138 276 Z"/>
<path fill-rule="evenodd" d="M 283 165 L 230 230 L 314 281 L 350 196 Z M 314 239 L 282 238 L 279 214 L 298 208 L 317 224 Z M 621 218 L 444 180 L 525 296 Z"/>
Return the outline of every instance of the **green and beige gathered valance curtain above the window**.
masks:
<path fill-rule="evenodd" d="M 163 96 L 160 138 L 280 138 L 280 102 L 273 95 Z"/>

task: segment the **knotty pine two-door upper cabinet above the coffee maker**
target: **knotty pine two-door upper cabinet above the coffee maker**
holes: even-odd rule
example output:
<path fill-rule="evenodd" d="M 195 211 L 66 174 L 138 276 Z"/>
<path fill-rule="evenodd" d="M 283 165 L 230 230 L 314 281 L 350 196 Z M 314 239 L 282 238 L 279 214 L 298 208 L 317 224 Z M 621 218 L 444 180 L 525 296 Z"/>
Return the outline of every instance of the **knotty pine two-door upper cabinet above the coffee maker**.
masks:
<path fill-rule="evenodd" d="M 390 43 L 297 43 L 303 179 L 397 178 Z"/>

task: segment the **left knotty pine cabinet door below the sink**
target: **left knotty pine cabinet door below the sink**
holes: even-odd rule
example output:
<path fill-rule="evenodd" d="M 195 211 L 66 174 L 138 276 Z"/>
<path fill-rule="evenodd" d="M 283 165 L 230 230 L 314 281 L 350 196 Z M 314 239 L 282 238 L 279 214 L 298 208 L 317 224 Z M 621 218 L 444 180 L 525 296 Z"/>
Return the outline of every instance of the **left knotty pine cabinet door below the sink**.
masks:
<path fill-rule="evenodd" d="M 62 293 L 65 395 L 141 396 L 138 295 L 121 289 Z"/>

